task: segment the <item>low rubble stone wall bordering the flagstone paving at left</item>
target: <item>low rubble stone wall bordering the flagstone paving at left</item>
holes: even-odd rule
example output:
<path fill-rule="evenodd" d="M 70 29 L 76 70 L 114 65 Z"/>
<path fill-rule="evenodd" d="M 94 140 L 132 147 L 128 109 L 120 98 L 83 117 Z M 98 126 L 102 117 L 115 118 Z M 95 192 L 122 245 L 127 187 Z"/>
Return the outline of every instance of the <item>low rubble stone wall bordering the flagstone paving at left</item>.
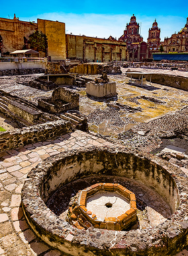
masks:
<path fill-rule="evenodd" d="M 66 121 L 55 121 L 24 127 L 0 133 L 0 152 L 26 146 L 38 141 L 46 141 L 72 131 L 71 124 Z"/>

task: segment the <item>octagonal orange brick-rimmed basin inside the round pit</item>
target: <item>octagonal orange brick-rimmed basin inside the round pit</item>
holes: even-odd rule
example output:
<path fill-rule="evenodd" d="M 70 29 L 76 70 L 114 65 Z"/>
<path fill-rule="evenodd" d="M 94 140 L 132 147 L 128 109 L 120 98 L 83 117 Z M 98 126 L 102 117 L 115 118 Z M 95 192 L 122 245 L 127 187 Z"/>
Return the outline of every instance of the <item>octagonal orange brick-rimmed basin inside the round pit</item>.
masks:
<path fill-rule="evenodd" d="M 128 229 L 137 222 L 136 197 L 118 183 L 97 183 L 71 200 L 66 220 L 79 229 Z"/>

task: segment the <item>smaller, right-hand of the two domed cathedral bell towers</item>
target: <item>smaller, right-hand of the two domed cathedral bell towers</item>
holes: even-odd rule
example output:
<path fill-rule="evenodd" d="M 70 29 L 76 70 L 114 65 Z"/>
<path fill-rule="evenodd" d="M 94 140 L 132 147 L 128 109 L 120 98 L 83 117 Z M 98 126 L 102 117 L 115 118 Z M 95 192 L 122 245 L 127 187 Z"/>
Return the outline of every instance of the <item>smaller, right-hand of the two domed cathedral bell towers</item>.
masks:
<path fill-rule="evenodd" d="M 150 53 L 158 52 L 160 44 L 160 28 L 158 28 L 158 24 L 155 20 L 152 24 L 152 28 L 149 29 L 148 34 L 148 46 L 150 49 Z"/>

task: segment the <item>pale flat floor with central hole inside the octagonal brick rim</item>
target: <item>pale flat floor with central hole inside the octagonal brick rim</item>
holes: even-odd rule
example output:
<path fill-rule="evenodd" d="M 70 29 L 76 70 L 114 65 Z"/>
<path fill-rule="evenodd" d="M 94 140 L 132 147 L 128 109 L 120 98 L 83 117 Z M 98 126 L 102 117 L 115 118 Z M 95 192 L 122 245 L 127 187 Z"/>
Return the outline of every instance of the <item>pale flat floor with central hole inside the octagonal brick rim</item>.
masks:
<path fill-rule="evenodd" d="M 109 217 L 118 218 L 130 210 L 130 202 L 117 192 L 102 191 L 87 199 L 87 210 L 104 221 Z"/>

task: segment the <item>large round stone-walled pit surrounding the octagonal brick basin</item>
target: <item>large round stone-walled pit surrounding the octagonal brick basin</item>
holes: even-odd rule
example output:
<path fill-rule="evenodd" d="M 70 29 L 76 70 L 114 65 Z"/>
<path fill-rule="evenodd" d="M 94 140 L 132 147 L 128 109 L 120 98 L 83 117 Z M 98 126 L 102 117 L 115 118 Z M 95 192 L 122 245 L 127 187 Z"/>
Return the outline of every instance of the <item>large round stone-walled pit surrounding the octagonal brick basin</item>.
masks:
<path fill-rule="evenodd" d="M 75 205 L 77 195 L 96 192 L 98 187 L 97 193 L 112 193 L 113 197 L 115 186 L 135 195 L 134 206 L 130 205 L 137 214 L 134 224 L 118 230 L 117 223 L 110 222 L 108 228 L 104 219 L 105 227 L 95 226 L 88 221 L 99 214 L 89 205 L 90 195 L 84 197 L 88 209 L 83 216 L 88 212 L 86 220 L 92 226 L 79 227 L 76 214 L 74 223 L 67 221 L 68 214 L 77 210 L 73 206 L 79 206 Z M 150 154 L 128 152 L 115 145 L 63 152 L 28 174 L 21 197 L 32 230 L 68 255 L 175 255 L 186 245 L 187 180 L 179 168 Z M 109 211 L 112 205 L 113 200 L 105 202 Z M 124 213 L 127 211 L 124 207 Z"/>

